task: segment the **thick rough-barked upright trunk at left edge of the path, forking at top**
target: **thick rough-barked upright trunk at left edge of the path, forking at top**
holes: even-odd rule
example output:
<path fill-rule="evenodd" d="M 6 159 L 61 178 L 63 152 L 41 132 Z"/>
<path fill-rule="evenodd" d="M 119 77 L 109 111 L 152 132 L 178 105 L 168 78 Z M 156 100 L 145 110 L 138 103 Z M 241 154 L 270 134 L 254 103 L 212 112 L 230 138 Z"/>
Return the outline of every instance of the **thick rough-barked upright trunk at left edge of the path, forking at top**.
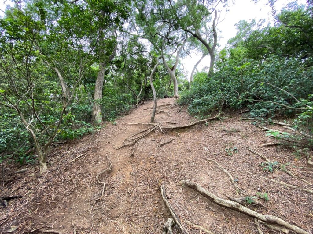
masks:
<path fill-rule="evenodd" d="M 113 37 L 117 37 L 116 32 L 112 32 Z M 104 46 L 104 39 L 103 36 L 99 40 L 99 47 L 100 47 L 100 53 L 104 53 L 103 47 Z M 103 59 L 100 59 L 99 63 L 99 71 L 97 75 L 97 79 L 95 82 L 95 94 L 94 94 L 94 105 L 92 108 L 92 120 L 94 123 L 98 124 L 102 122 L 102 105 L 101 105 L 101 100 L 102 100 L 102 90 L 103 90 L 103 82 L 104 82 L 104 76 L 105 76 L 105 69 L 108 63 L 112 61 L 112 59 L 116 55 L 116 50 L 117 50 L 117 42 L 116 45 L 113 49 L 112 54 L 109 56 L 109 58 L 104 61 Z M 100 55 L 103 56 L 103 55 Z"/>

